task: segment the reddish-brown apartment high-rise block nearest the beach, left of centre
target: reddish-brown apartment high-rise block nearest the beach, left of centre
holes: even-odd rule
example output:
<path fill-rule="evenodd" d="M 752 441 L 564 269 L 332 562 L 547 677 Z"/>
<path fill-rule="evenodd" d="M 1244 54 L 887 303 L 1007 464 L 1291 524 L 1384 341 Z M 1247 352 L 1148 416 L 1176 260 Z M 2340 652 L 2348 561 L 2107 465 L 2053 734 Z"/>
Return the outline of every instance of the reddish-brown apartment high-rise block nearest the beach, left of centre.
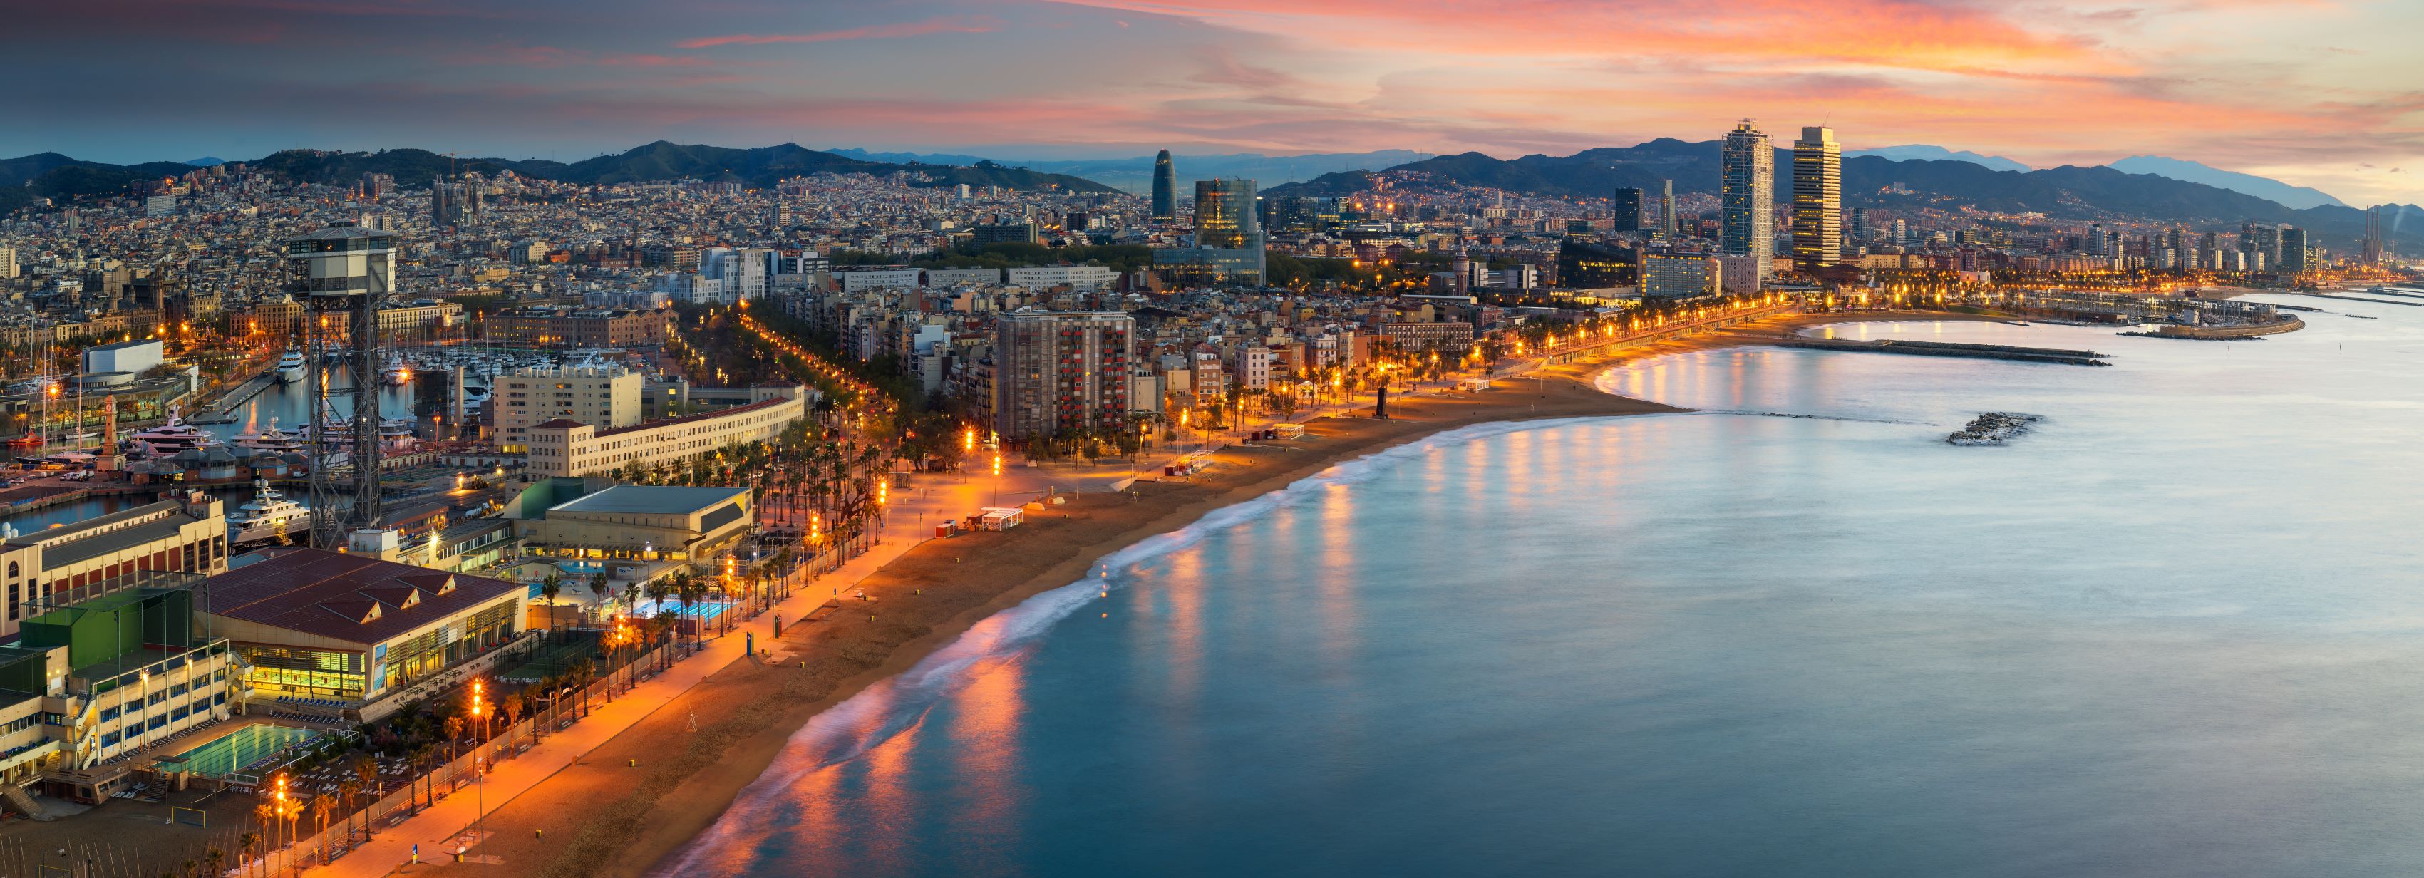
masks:
<path fill-rule="evenodd" d="M 1013 310 L 994 323 L 994 432 L 1001 439 L 1127 427 L 1125 310 Z"/>

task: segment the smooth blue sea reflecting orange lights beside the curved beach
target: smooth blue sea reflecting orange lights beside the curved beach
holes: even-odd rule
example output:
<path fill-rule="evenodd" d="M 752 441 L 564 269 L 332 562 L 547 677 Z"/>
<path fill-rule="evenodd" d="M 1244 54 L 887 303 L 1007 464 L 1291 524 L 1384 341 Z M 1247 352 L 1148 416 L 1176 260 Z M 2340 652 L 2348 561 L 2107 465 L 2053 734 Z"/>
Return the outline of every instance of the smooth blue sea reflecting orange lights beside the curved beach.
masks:
<path fill-rule="evenodd" d="M 2424 310 L 2332 310 L 2383 320 L 1610 374 L 1760 415 L 1476 427 L 1127 548 L 664 868 L 2412 876 Z M 2046 420 L 1942 441 L 1980 410 Z"/>

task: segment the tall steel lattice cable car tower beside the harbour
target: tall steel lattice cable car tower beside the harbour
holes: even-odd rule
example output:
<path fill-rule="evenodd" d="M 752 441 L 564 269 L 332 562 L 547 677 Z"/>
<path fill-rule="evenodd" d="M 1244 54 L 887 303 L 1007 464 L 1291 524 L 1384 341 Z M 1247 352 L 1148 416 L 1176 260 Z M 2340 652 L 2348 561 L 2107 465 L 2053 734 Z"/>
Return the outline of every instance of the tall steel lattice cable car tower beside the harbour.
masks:
<path fill-rule="evenodd" d="M 395 289 L 395 240 L 354 223 L 286 238 L 286 289 L 305 308 L 310 357 L 313 548 L 342 551 L 378 526 L 378 303 Z M 339 412 L 344 395 L 351 405 Z"/>

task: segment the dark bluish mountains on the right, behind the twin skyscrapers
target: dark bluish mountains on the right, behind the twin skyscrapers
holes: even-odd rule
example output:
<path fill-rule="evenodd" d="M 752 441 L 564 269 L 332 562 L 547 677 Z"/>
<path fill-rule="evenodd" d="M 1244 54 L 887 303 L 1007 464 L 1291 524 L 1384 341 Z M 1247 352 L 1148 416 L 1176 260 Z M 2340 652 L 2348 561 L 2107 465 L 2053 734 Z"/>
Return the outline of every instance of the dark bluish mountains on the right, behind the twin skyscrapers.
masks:
<path fill-rule="evenodd" d="M 1789 172 L 1791 150 L 1777 150 L 1779 172 Z M 1447 184 L 1488 187 L 1532 196 L 1607 196 L 1617 187 L 1658 192 L 1663 179 L 1675 192 L 1714 194 L 1719 182 L 1719 141 L 1687 143 L 1658 138 L 1627 148 L 1595 148 L 1573 155 L 1491 158 L 1481 153 L 1437 155 L 1389 167 L 1413 172 L 1401 189 Z M 1372 172 L 1338 172 L 1304 184 L 1273 187 L 1265 196 L 1340 196 L 1370 189 Z M 1779 179 L 1779 194 L 1786 189 Z M 2133 175 L 2114 167 L 1993 170 L 1973 160 L 1891 160 L 1852 155 L 1842 160 L 1842 204 L 1879 209 L 1959 209 L 1995 213 L 2046 213 L 2058 218 L 2133 218 L 2201 228 L 2240 221 L 2286 221 L 2334 240 L 2354 240 L 2363 213 L 2339 204 L 2293 209 L 2271 199 L 2230 192 L 2216 184 Z M 2424 223 L 2419 223 L 2424 226 Z M 2424 240 L 2424 228 L 2400 228 L 2407 240 Z"/>

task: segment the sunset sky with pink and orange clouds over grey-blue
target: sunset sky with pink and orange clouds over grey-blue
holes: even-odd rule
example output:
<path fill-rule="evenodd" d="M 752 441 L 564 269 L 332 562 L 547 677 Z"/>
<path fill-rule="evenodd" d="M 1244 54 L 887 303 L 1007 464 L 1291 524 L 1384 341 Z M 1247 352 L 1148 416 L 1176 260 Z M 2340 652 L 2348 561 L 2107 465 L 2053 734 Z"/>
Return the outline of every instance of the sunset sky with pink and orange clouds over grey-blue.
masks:
<path fill-rule="evenodd" d="M 1515 158 L 1757 119 L 2424 201 L 2417 0 L 99 0 L 7 22 L 0 155 Z"/>

